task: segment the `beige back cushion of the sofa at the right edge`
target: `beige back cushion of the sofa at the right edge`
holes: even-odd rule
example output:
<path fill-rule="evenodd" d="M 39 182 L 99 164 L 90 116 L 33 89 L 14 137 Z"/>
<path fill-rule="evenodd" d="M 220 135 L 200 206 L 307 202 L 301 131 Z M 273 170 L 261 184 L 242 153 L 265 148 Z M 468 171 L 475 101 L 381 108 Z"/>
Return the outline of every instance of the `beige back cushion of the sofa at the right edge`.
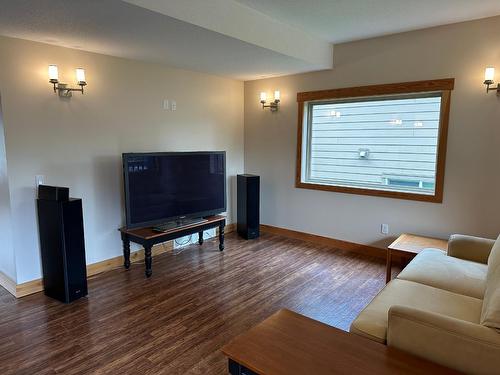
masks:
<path fill-rule="evenodd" d="M 488 258 L 481 324 L 500 329 L 500 236 L 493 245 Z"/>

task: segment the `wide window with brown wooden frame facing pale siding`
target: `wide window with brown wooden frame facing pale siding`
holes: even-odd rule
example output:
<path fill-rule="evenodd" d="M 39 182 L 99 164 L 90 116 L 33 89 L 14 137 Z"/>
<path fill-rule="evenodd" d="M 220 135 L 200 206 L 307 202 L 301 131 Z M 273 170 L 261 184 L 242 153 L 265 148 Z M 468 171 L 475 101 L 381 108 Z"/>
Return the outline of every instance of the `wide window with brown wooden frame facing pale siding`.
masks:
<path fill-rule="evenodd" d="M 453 84 L 297 94 L 297 187 L 441 202 Z"/>

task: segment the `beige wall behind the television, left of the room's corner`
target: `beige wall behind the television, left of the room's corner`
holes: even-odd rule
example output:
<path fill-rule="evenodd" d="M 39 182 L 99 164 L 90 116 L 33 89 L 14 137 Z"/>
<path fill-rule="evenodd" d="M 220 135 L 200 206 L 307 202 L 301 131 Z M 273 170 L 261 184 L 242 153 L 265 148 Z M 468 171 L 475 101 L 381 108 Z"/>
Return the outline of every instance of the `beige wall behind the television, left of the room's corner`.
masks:
<path fill-rule="evenodd" d="M 47 81 L 51 63 L 71 84 L 74 68 L 84 67 L 85 95 L 57 97 Z M 83 198 L 88 264 L 121 254 L 122 152 L 226 150 L 234 220 L 243 83 L 10 38 L 0 38 L 0 67 L 18 283 L 41 276 L 37 174 Z M 177 101 L 175 112 L 162 109 L 164 98 Z"/>

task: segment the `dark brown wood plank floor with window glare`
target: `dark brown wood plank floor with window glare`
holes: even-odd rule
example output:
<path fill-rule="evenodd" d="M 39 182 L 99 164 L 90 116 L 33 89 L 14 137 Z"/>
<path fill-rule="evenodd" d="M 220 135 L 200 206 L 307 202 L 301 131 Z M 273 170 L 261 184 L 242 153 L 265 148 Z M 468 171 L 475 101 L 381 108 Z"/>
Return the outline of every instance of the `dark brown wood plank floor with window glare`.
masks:
<path fill-rule="evenodd" d="M 220 348 L 281 308 L 347 330 L 385 285 L 377 259 L 234 233 L 89 280 L 64 305 L 0 288 L 0 374 L 226 374 Z"/>

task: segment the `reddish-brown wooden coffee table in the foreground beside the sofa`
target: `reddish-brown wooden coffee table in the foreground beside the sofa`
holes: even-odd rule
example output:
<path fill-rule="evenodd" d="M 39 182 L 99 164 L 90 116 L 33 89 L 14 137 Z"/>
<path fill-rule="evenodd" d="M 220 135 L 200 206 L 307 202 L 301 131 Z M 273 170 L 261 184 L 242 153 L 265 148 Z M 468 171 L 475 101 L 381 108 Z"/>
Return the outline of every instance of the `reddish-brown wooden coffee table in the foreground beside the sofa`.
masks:
<path fill-rule="evenodd" d="M 222 352 L 231 375 L 455 374 L 290 310 L 278 311 Z"/>

